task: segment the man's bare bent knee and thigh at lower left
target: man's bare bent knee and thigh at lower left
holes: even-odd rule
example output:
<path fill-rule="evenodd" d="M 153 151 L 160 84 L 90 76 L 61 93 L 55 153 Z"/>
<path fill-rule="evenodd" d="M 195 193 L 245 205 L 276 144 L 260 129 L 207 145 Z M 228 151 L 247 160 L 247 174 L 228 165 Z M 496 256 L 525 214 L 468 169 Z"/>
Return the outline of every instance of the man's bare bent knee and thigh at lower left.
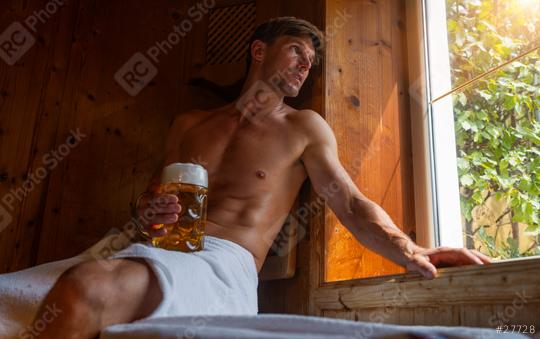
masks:
<path fill-rule="evenodd" d="M 39 338 L 94 338 L 109 325 L 150 315 L 162 298 L 152 269 L 142 259 L 87 261 L 60 276 L 32 330 Z"/>

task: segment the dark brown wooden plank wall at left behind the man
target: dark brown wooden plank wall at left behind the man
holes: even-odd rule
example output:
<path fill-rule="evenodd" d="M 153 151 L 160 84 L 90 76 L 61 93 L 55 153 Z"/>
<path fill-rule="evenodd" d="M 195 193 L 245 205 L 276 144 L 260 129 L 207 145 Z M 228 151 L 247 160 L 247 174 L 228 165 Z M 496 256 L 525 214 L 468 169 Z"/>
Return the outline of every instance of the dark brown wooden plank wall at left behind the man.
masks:
<path fill-rule="evenodd" d="M 1 2 L 0 29 L 48 3 Z M 203 90 L 188 86 L 186 74 L 195 42 L 204 40 L 204 19 L 152 62 L 157 75 L 137 95 L 115 73 L 165 40 L 194 3 L 69 1 L 36 25 L 35 44 L 15 65 L 0 60 L 0 197 L 49 169 L 43 156 L 70 131 L 85 135 L 22 201 L 2 203 L 12 220 L 0 232 L 0 272 L 75 255 L 129 221 L 129 203 L 160 162 L 173 117 L 202 101 Z M 207 95 L 204 103 L 221 101 Z"/>

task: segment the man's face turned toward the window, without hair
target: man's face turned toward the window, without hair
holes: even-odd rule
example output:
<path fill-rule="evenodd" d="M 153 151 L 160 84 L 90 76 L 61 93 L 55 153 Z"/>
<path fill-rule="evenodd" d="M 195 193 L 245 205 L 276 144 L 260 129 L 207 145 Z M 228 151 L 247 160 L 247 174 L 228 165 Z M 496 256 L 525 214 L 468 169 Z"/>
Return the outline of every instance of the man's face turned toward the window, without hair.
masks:
<path fill-rule="evenodd" d="M 315 50 L 309 36 L 282 36 L 267 45 L 263 74 L 285 96 L 295 97 L 309 75 Z"/>

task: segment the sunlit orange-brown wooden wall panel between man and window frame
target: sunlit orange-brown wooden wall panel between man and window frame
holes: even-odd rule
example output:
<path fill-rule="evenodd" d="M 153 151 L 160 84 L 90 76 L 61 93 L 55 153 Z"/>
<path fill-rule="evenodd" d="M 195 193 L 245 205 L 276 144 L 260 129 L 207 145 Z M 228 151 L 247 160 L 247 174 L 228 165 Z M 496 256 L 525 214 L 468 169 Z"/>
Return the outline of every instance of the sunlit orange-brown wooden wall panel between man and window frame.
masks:
<path fill-rule="evenodd" d="M 412 234 L 414 203 L 401 1 L 328 1 L 326 119 L 340 159 L 370 199 Z M 346 20 L 344 18 L 353 17 Z M 403 272 L 327 211 L 325 281 Z"/>

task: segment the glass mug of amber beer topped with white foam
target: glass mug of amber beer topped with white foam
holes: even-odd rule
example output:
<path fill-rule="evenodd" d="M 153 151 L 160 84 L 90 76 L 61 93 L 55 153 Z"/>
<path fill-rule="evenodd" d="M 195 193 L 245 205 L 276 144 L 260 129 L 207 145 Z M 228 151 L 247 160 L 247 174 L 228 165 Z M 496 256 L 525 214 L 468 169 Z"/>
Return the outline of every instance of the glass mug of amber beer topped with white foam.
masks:
<path fill-rule="evenodd" d="M 178 221 L 160 224 L 167 234 L 152 239 L 156 247 L 167 250 L 195 252 L 203 249 L 206 228 L 208 173 L 197 164 L 174 163 L 163 169 L 159 193 L 174 194 L 182 210 Z"/>

